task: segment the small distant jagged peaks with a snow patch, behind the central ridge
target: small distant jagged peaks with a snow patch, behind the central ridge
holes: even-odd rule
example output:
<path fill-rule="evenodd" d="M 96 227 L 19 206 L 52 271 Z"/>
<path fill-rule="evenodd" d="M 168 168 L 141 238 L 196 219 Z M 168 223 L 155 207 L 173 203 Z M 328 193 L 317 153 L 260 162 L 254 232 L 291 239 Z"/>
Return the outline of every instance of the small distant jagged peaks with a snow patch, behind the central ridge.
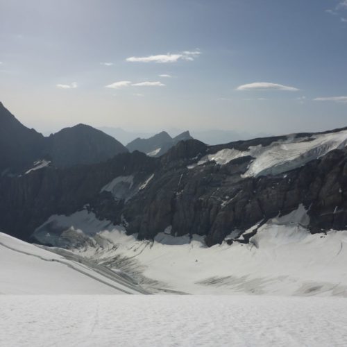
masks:
<path fill-rule="evenodd" d="M 189 131 L 185 131 L 174 138 L 171 137 L 166 131 L 162 131 L 149 139 L 134 139 L 132 142 L 126 145 L 126 148 L 130 152 L 140 151 L 153 157 L 160 157 L 160 155 L 166 153 L 178 142 L 192 138 L 193 137 L 190 136 Z"/>

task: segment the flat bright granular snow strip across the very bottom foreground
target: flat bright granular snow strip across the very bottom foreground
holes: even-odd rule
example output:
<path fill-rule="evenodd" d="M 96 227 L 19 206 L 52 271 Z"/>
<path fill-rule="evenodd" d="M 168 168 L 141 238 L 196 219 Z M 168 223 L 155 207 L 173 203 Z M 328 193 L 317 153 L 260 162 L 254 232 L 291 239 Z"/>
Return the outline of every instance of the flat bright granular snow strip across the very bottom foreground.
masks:
<path fill-rule="evenodd" d="M 0 346 L 346 346 L 343 298 L 0 296 Z"/>

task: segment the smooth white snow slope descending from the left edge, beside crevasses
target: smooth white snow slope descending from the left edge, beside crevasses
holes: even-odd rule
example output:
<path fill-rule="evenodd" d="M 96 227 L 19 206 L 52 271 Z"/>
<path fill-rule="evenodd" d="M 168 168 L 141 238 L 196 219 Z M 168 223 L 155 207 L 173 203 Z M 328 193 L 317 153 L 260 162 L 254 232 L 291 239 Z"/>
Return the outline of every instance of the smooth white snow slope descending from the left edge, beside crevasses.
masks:
<path fill-rule="evenodd" d="M 68 260 L 0 232 L 0 294 L 139 292 L 144 291 L 108 269 L 93 266 L 78 257 Z"/>

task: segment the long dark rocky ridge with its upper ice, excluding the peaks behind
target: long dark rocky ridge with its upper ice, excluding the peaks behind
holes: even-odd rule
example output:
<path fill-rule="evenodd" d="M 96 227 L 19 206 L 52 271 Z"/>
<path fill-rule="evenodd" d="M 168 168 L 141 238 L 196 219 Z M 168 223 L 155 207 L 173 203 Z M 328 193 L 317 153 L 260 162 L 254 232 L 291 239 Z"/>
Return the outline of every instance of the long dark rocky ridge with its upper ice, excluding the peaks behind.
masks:
<path fill-rule="evenodd" d="M 227 235 L 303 205 L 308 228 L 347 228 L 346 130 L 206 146 L 190 139 L 160 158 L 137 151 L 70 169 L 48 167 L 0 180 L 0 228 L 28 239 L 52 214 L 89 210 L 151 239 Z M 241 235 L 243 235 L 241 237 Z"/>

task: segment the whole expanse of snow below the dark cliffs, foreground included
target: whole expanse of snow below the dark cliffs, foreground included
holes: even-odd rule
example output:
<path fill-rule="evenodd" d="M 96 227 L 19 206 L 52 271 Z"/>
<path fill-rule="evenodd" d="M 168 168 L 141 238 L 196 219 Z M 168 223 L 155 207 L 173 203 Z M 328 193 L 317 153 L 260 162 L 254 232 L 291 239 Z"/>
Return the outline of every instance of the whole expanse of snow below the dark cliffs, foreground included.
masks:
<path fill-rule="evenodd" d="M 301 205 L 211 248 L 170 226 L 139 241 L 87 211 L 38 228 L 71 250 L 0 233 L 0 294 L 59 294 L 0 295 L 0 346 L 347 346 L 347 231 L 307 221 Z M 171 295 L 118 295 L 148 293 Z"/>

